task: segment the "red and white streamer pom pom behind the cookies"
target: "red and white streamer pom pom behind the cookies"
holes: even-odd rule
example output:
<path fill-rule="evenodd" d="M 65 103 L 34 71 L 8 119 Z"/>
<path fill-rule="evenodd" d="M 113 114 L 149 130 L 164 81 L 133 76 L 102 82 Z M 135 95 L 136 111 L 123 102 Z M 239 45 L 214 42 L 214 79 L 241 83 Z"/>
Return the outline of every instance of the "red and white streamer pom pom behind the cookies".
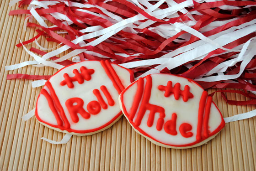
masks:
<path fill-rule="evenodd" d="M 27 65 L 60 69 L 72 63 L 70 57 L 79 56 L 80 61 L 103 59 L 132 68 L 137 78 L 161 71 L 191 78 L 204 89 L 256 92 L 255 1 L 19 1 L 19 7 L 23 5 L 27 10 L 12 10 L 10 15 L 27 14 L 27 26 L 36 27 L 38 34 L 17 46 L 34 41 L 38 49 L 25 48 L 34 61 L 6 70 Z M 41 47 L 36 41 L 41 36 L 60 46 Z M 250 98 L 256 104 L 256 98 Z"/>

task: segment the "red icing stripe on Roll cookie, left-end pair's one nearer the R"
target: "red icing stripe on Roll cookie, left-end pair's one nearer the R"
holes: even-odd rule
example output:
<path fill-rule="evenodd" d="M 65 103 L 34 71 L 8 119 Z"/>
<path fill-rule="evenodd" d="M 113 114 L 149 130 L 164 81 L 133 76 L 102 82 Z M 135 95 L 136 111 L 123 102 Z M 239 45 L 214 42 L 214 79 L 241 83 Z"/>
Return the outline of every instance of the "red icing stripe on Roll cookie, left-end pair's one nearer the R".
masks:
<path fill-rule="evenodd" d="M 60 102 L 59 102 L 59 98 L 57 97 L 57 95 L 56 95 L 56 93 L 55 93 L 55 91 L 54 91 L 54 89 L 53 89 L 52 84 L 51 84 L 49 81 L 47 81 L 47 82 L 45 83 L 45 85 L 46 85 L 46 86 L 49 88 L 49 90 L 50 90 L 50 93 L 51 93 L 51 95 L 52 95 L 53 101 L 55 102 L 55 105 L 56 105 L 57 109 L 59 110 L 60 116 L 62 117 L 62 119 L 63 119 L 63 121 L 64 121 L 65 128 L 70 128 L 69 121 L 68 121 L 68 119 L 67 119 L 67 117 L 66 117 L 66 115 L 65 115 L 65 112 L 64 112 L 64 110 L 63 110 L 63 108 L 62 108 L 62 106 L 61 106 L 61 104 L 60 104 Z"/>

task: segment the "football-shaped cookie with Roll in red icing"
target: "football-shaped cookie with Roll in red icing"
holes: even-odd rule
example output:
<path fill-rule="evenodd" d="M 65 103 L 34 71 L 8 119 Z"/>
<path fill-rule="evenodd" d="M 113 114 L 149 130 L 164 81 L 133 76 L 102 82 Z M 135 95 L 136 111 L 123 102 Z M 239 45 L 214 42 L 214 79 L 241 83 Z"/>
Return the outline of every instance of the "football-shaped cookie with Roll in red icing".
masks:
<path fill-rule="evenodd" d="M 118 95 L 134 81 L 133 72 L 108 61 L 84 61 L 55 73 L 41 90 L 37 120 L 61 132 L 91 135 L 121 117 Z"/>

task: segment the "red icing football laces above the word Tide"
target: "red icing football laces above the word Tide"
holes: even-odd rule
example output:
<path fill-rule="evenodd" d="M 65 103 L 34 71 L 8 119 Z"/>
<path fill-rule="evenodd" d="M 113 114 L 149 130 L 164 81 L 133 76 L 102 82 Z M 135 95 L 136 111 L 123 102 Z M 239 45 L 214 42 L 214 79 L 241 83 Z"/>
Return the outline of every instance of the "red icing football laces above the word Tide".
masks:
<path fill-rule="evenodd" d="M 165 97 L 169 97 L 173 93 L 174 98 L 178 100 L 180 96 L 182 96 L 184 102 L 187 102 L 189 98 L 194 97 L 193 94 L 189 91 L 190 87 L 186 85 L 182 91 L 180 83 L 176 83 L 174 87 L 172 87 L 172 82 L 168 81 L 166 86 L 160 85 L 158 86 L 158 89 L 160 91 L 165 91 Z"/>

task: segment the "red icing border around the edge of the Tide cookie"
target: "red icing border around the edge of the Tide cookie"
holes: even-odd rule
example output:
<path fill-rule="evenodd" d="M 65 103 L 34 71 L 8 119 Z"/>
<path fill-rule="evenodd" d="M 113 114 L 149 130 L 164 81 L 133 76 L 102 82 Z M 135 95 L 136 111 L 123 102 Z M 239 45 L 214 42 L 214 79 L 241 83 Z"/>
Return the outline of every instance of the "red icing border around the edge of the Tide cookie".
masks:
<path fill-rule="evenodd" d="M 156 73 L 156 74 L 165 74 L 165 73 Z M 153 74 L 150 74 L 150 75 L 153 75 Z M 154 75 L 155 75 L 155 74 L 154 74 Z M 165 75 L 173 75 L 173 74 L 165 74 Z M 185 78 L 185 77 L 182 77 L 182 76 L 179 76 L 179 75 L 173 75 L 173 76 Z M 146 76 L 146 77 L 147 77 L 147 76 Z M 143 79 L 146 78 L 146 77 L 143 77 Z M 193 81 L 192 79 L 190 79 L 190 78 L 186 78 L 186 79 L 187 79 L 189 82 L 195 83 L 195 84 L 198 85 L 200 88 L 202 88 L 198 83 L 196 83 L 196 82 Z M 131 86 L 133 86 L 133 84 L 135 84 L 135 83 L 137 83 L 137 82 L 138 82 L 138 80 L 136 80 L 136 81 L 134 81 L 133 83 L 131 83 L 130 85 L 128 85 L 128 86 L 123 90 L 123 92 L 120 94 L 120 100 L 121 100 L 121 103 L 122 103 L 123 113 L 124 113 L 124 115 L 128 116 L 127 118 L 130 118 L 130 117 L 129 117 L 129 114 L 128 114 L 128 112 L 127 112 L 127 109 L 125 108 L 125 105 L 124 105 L 124 103 L 123 103 L 123 94 L 128 90 L 128 88 L 130 88 Z M 203 89 L 203 88 L 202 88 L 202 89 Z M 206 100 L 206 99 L 205 99 L 205 100 Z M 204 102 L 204 103 L 205 103 L 205 102 Z M 215 107 L 216 107 L 216 109 L 219 111 L 219 108 L 216 106 L 216 104 L 215 104 L 214 102 L 212 102 L 212 104 L 214 104 Z M 220 130 L 222 130 L 222 129 L 224 128 L 224 126 L 225 126 L 225 121 L 224 121 L 223 116 L 222 116 L 222 114 L 221 114 L 220 111 L 219 111 L 219 114 L 221 115 L 221 123 L 219 124 L 219 126 L 218 126 L 217 129 L 215 129 L 215 130 L 214 130 L 212 133 L 210 133 L 210 134 L 208 133 L 208 137 L 201 136 L 201 134 L 202 134 L 202 131 L 201 131 L 201 134 L 200 134 L 201 138 L 200 138 L 200 140 L 196 140 L 195 142 L 192 142 L 192 143 L 189 143 L 189 144 L 185 144 L 185 145 L 172 145 L 172 144 L 166 144 L 166 143 L 160 142 L 159 140 L 156 140 L 154 137 L 148 135 L 146 132 L 144 132 L 144 130 L 141 130 L 141 129 L 139 128 L 139 126 L 136 126 L 136 124 L 133 122 L 132 119 L 128 119 L 128 120 L 129 120 L 129 123 L 132 124 L 133 127 L 134 127 L 136 130 L 138 130 L 141 134 L 143 134 L 144 136 L 149 137 L 149 138 L 152 139 L 152 140 L 155 140 L 156 142 L 159 142 L 159 143 L 164 144 L 164 145 L 169 145 L 169 146 L 186 147 L 186 146 L 192 146 L 192 145 L 195 145 L 195 144 L 197 144 L 197 143 L 200 143 L 200 142 L 202 142 L 203 140 L 205 140 L 205 139 L 207 139 L 207 138 L 209 138 L 209 137 L 211 137 L 211 136 L 217 134 Z M 202 130 L 203 122 L 206 122 L 206 121 L 204 121 L 204 120 L 202 119 L 202 124 L 201 124 L 201 129 L 200 129 L 200 130 Z"/>

